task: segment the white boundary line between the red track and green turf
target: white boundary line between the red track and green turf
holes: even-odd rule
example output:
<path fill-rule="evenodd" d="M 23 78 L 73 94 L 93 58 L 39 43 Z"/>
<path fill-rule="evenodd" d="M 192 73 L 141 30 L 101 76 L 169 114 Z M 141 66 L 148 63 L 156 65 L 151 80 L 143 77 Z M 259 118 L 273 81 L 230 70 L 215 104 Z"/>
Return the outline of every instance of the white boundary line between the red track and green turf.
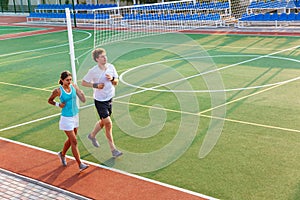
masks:
<path fill-rule="evenodd" d="M 21 143 L 21 142 L 17 142 L 17 141 L 14 141 L 14 140 L 10 140 L 10 139 L 7 139 L 7 138 L 0 137 L 0 140 L 11 142 L 11 143 L 15 143 L 15 144 L 18 144 L 18 145 L 22 145 L 22 146 L 29 147 L 29 148 L 32 148 L 32 149 L 36 149 L 36 150 L 43 151 L 43 152 L 46 152 L 46 153 L 50 153 L 50 154 L 53 154 L 53 155 L 57 155 L 57 152 L 49 151 L 47 149 L 42 149 L 42 148 L 35 147 L 35 146 L 32 146 L 32 145 L 28 145 L 28 144 L 25 144 L 25 143 Z M 66 157 L 69 158 L 69 159 L 75 160 L 75 158 L 73 158 L 71 156 L 66 155 Z M 135 175 L 135 174 L 130 174 L 130 173 L 122 171 L 122 170 L 110 168 L 110 167 L 103 166 L 103 165 L 100 165 L 100 164 L 96 164 L 96 163 L 93 163 L 93 162 L 90 162 L 90 161 L 86 161 L 86 160 L 83 160 L 83 161 L 85 163 L 88 163 L 89 165 L 93 165 L 95 167 L 107 169 L 107 170 L 110 170 L 110 171 L 113 171 L 113 172 L 116 172 L 116 173 L 119 173 L 119 174 L 130 176 L 130 177 L 133 177 L 133 178 L 136 178 L 136 179 L 140 179 L 140 180 L 143 180 L 143 181 L 146 181 L 146 182 L 154 183 L 154 184 L 157 184 L 157 185 L 160 185 L 160 186 L 164 186 L 164 187 L 167 187 L 167 188 L 170 188 L 170 189 L 181 191 L 181 192 L 184 192 L 184 193 L 187 193 L 187 194 L 191 194 L 191 195 L 194 195 L 194 196 L 197 196 L 197 197 L 202 197 L 202 198 L 206 198 L 206 199 L 209 199 L 209 200 L 217 200 L 214 197 L 210 197 L 210 196 L 207 196 L 207 195 L 204 195 L 204 194 L 200 194 L 200 193 L 197 193 L 197 192 L 194 192 L 194 191 L 191 191 L 191 190 L 187 190 L 187 189 L 184 189 L 184 188 L 180 188 L 180 187 L 177 187 L 177 186 L 174 186 L 174 185 L 169 185 L 169 184 L 166 184 L 166 183 L 162 183 L 162 182 L 159 182 L 159 181 L 156 181 L 156 180 L 152 180 L 152 179 L 149 179 L 149 178 L 145 178 L 145 177 L 142 177 L 142 176 L 138 176 L 138 175 Z"/>

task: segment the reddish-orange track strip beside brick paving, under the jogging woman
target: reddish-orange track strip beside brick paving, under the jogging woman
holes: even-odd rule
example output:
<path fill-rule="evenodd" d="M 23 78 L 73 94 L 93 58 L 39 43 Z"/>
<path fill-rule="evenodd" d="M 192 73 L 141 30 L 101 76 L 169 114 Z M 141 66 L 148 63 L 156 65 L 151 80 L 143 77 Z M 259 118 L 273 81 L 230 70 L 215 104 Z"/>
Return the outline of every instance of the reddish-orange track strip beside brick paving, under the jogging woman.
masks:
<path fill-rule="evenodd" d="M 205 200 L 205 195 L 91 164 L 79 172 L 75 160 L 61 165 L 56 153 L 0 138 L 0 168 L 91 199 Z M 211 198 L 213 199 L 213 198 Z"/>

